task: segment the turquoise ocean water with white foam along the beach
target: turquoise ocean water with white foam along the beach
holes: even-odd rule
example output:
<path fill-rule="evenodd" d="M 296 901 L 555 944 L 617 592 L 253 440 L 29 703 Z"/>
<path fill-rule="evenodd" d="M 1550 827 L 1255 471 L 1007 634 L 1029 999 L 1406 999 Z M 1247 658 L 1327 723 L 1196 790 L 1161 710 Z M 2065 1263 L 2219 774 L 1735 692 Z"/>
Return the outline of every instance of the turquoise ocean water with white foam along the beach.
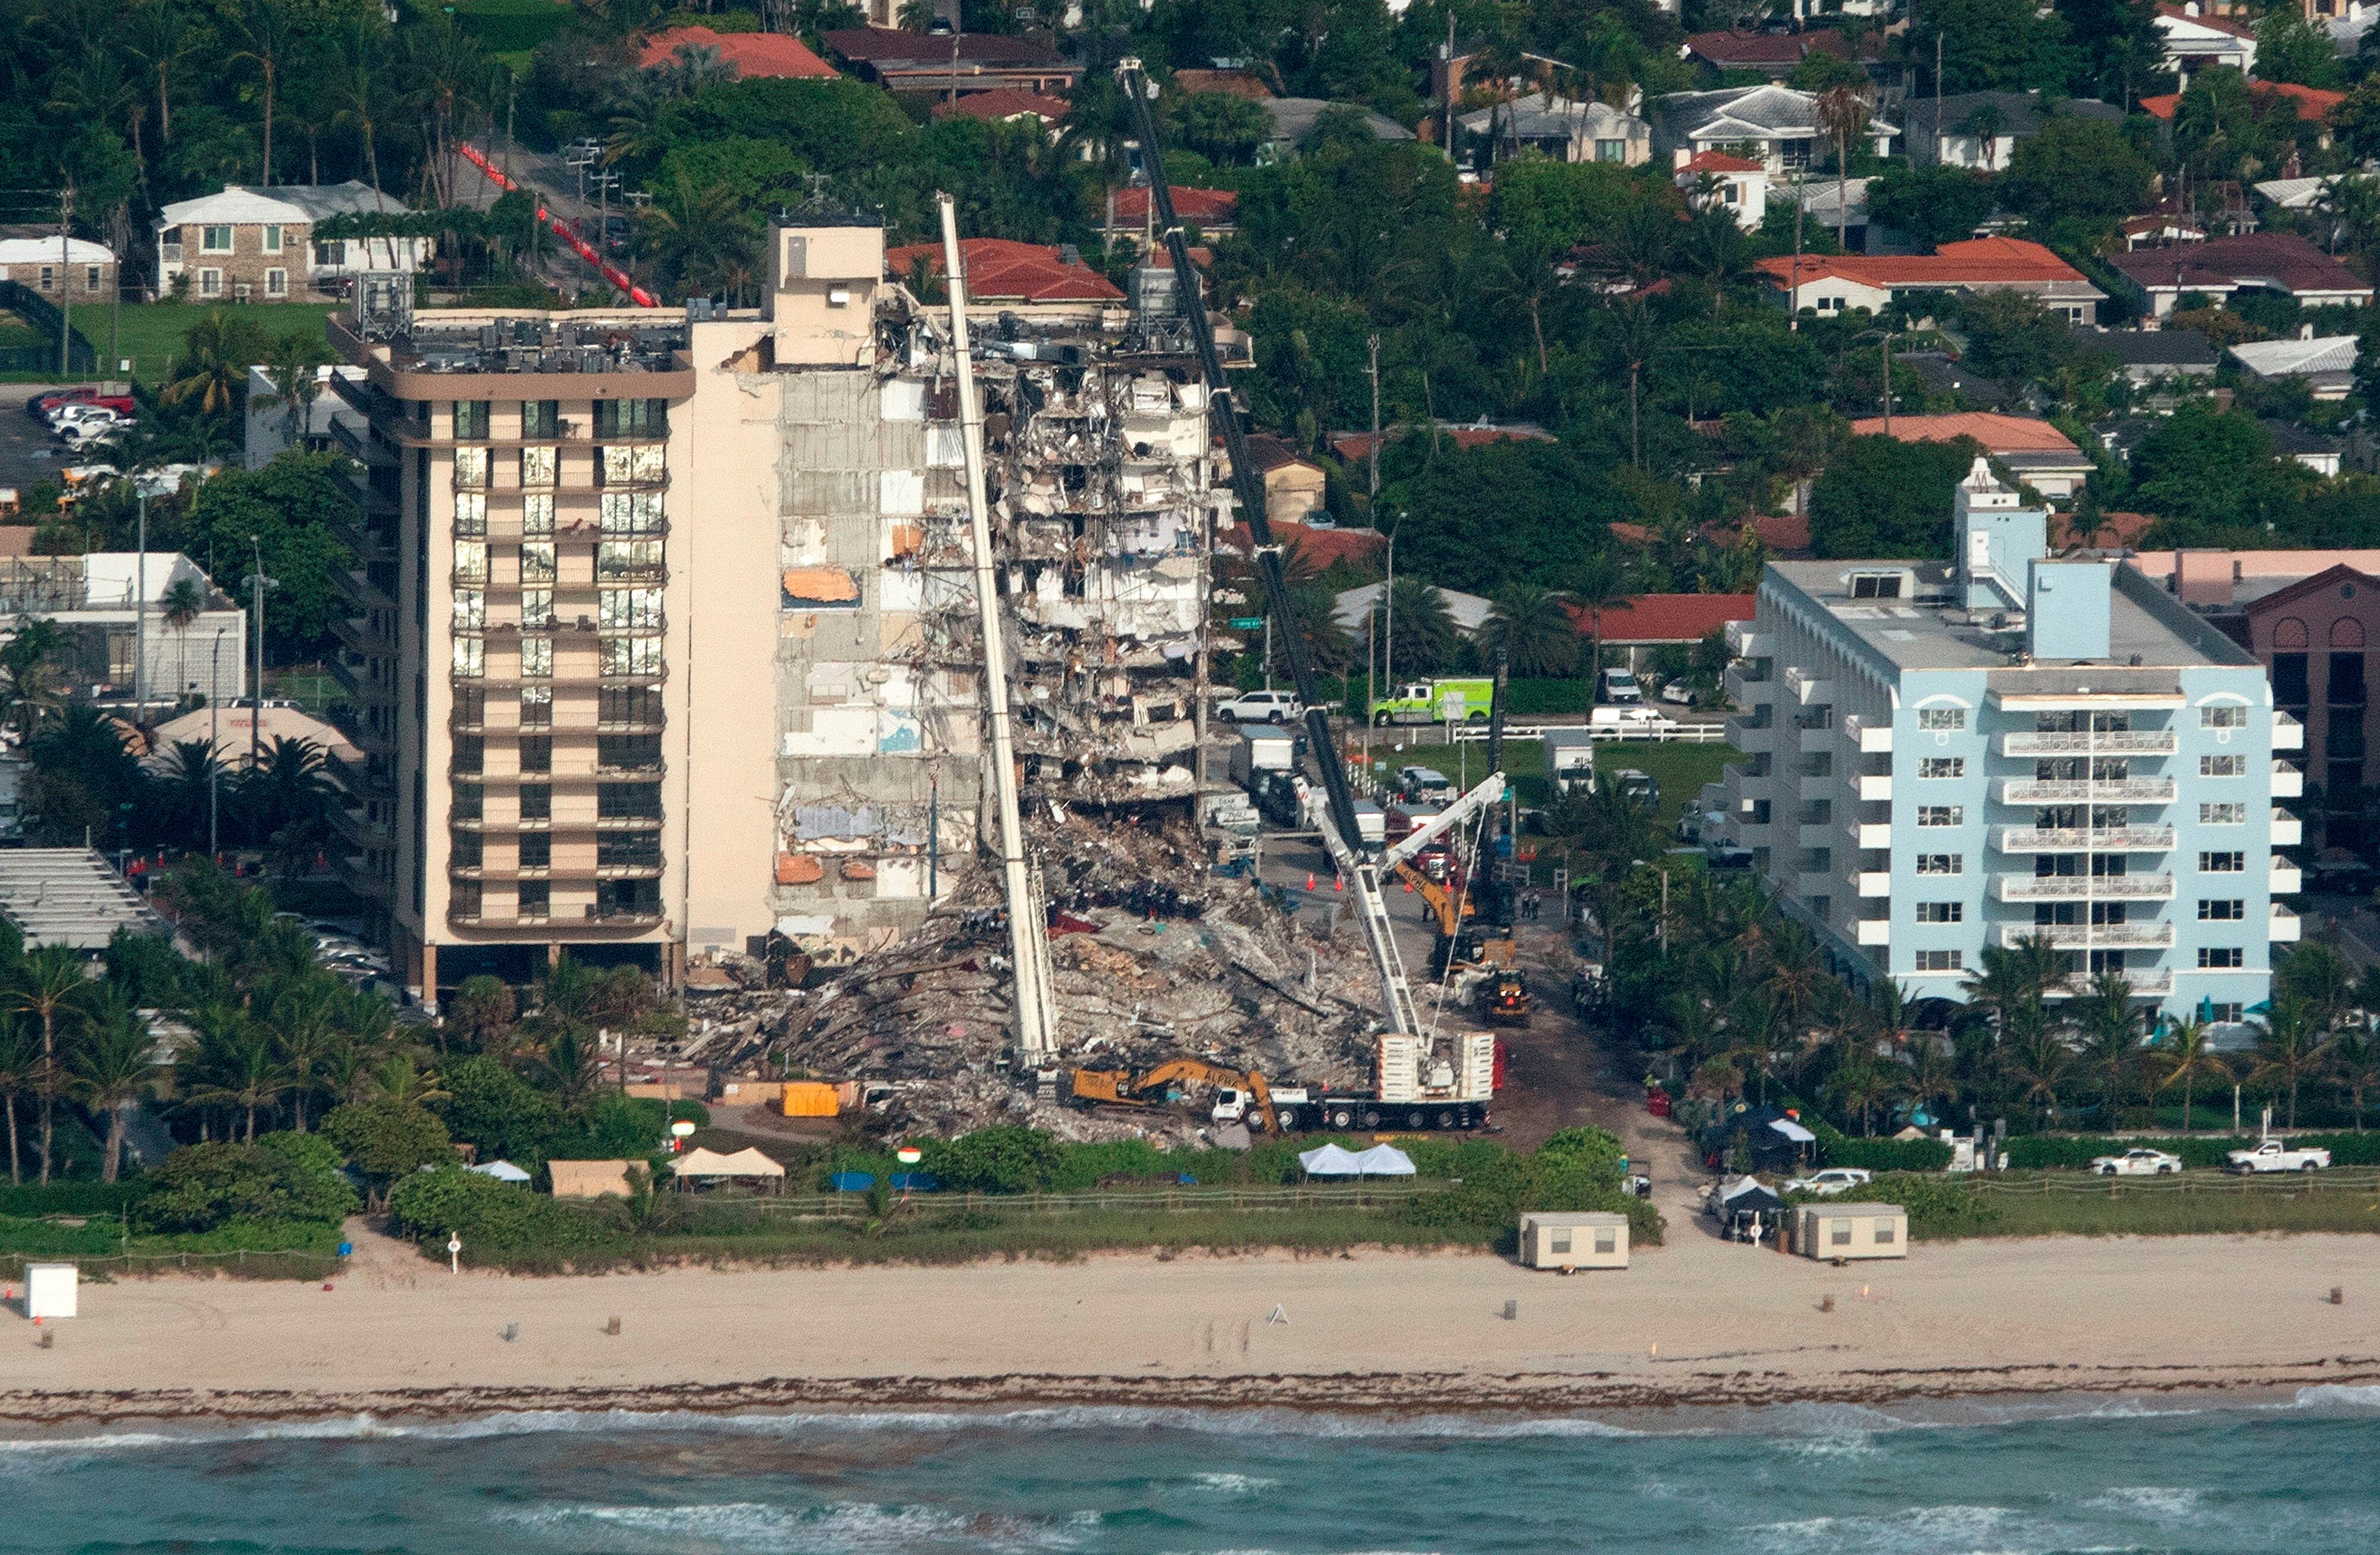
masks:
<path fill-rule="evenodd" d="M 514 1415 L 0 1443 L 0 1550 L 2380 1550 L 2380 1389 L 1604 1419 Z"/>

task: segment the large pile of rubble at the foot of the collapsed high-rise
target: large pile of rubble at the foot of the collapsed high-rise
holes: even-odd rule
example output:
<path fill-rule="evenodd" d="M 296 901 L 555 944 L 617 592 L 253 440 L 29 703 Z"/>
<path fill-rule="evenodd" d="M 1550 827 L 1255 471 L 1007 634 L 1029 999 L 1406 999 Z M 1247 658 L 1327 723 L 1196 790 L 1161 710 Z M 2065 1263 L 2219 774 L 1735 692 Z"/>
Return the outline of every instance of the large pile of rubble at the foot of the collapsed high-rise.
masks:
<path fill-rule="evenodd" d="M 1061 1065 L 1147 1068 L 1204 1058 L 1276 1084 L 1361 1084 L 1378 984 L 1326 942 L 1209 873 L 1188 823 L 1035 825 L 1054 908 L 1050 965 Z M 1009 942 L 997 873 L 971 870 L 914 934 L 795 996 L 747 994 L 724 1013 L 716 1060 L 762 1058 L 895 1089 L 895 1129 L 1031 1122 L 1066 1139 L 1188 1134 L 1178 1115 L 1090 1115 L 1009 1075 Z"/>

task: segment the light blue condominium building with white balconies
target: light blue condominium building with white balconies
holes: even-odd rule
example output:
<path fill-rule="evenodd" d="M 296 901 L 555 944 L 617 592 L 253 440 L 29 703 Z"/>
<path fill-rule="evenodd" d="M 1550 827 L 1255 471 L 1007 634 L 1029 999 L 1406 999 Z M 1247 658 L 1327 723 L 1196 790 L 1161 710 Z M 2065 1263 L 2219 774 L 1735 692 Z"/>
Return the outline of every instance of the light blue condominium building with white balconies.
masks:
<path fill-rule="evenodd" d="M 2056 559 L 1978 459 L 1954 561 L 1775 561 L 1730 632 L 1745 751 L 1704 808 L 1854 980 L 1966 999 L 2044 934 L 2078 991 L 2121 970 L 2173 1018 L 2240 1020 L 2297 939 L 2266 671 L 2140 573 Z"/>

